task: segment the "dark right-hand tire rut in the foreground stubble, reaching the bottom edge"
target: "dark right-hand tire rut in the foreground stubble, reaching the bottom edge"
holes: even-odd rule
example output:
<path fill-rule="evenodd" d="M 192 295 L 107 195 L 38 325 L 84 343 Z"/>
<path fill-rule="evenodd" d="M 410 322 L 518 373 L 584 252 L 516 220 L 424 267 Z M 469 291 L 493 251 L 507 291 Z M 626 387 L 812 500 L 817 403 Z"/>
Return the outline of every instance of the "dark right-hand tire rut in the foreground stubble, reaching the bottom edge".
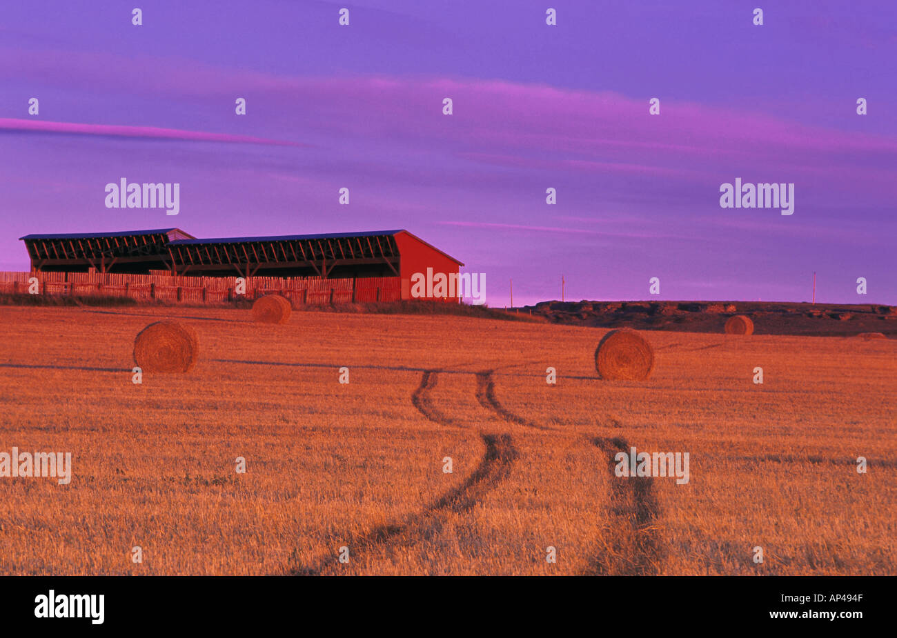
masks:
<path fill-rule="evenodd" d="M 597 436 L 591 443 L 607 455 L 611 473 L 612 518 L 605 524 L 600 553 L 589 561 L 582 575 L 644 576 L 658 573 L 660 537 L 655 523 L 660 515 L 657 496 L 649 477 L 617 477 L 617 453 L 629 453 L 620 437 Z"/>

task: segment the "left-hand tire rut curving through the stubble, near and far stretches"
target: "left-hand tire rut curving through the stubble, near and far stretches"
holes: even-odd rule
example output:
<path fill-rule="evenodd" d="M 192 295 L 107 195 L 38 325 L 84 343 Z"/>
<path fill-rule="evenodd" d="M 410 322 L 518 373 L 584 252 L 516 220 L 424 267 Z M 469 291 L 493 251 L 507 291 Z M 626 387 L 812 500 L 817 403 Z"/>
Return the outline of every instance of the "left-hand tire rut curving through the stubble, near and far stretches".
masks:
<path fill-rule="evenodd" d="M 440 372 L 440 370 L 425 370 L 421 376 L 421 384 L 412 393 L 411 401 L 424 417 L 441 426 L 464 427 L 432 405 L 430 392 L 436 387 Z M 411 514 L 404 522 L 381 525 L 363 535 L 350 538 L 346 542 L 350 560 L 357 560 L 375 551 L 413 546 L 436 536 L 452 514 L 465 513 L 473 509 L 483 496 L 508 478 L 514 462 L 518 459 L 518 451 L 511 435 L 481 433 L 480 436 L 485 444 L 483 459 L 460 486 L 449 490 L 421 512 Z M 342 572 L 343 568 L 337 559 L 330 557 L 318 561 L 318 565 L 300 567 L 294 570 L 292 575 L 313 576 Z"/>

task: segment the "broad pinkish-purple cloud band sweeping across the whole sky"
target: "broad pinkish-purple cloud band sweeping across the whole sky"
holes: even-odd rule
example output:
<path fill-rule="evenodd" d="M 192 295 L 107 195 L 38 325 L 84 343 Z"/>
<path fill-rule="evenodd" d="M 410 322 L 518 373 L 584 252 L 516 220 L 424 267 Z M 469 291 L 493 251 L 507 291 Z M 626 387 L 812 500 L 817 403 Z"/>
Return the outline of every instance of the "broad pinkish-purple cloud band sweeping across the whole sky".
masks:
<path fill-rule="evenodd" d="M 21 81 L 27 71 L 74 88 L 102 85 L 111 73 L 140 78 L 127 91 L 191 105 L 249 94 L 267 108 L 264 120 L 248 122 L 259 137 L 302 131 L 335 148 L 355 150 L 359 142 L 378 148 L 416 145 L 476 165 L 666 181 L 716 179 L 733 171 L 738 173 L 730 178 L 751 179 L 746 173 L 762 168 L 764 176 L 806 177 L 829 189 L 862 184 L 893 192 L 887 168 L 897 162 L 893 136 L 806 125 L 748 108 L 665 99 L 663 114 L 649 116 L 645 99 L 527 82 L 439 75 L 297 76 L 178 58 L 0 53 L 0 79 Z M 454 100 L 450 118 L 441 115 L 445 97 Z"/>

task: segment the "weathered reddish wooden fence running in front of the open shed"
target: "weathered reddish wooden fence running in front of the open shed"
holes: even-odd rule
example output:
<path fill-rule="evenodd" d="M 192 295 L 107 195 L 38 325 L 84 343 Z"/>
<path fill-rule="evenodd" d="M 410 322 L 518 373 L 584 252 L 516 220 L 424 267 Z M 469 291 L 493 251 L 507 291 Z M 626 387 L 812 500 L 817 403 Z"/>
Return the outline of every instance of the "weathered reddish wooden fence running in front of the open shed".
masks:
<path fill-rule="evenodd" d="M 40 295 L 78 297 L 132 297 L 168 302 L 216 304 L 239 298 L 249 300 L 276 293 L 295 306 L 398 301 L 402 297 L 397 277 L 322 279 L 320 277 L 190 277 L 170 274 L 121 272 L 0 272 L 0 293 L 28 293 L 30 279 L 37 280 Z M 239 292 L 243 279 L 245 292 Z"/>

